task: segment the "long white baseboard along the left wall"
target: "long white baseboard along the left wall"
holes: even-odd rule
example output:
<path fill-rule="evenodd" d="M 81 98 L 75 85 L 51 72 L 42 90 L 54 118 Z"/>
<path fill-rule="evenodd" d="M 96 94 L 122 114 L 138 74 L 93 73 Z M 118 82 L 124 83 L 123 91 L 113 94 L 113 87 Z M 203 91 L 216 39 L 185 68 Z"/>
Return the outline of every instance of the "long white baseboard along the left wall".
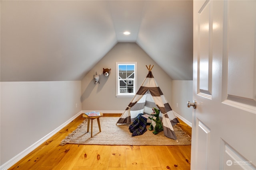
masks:
<path fill-rule="evenodd" d="M 16 156 L 14 156 L 12 159 L 8 160 L 6 163 L 2 164 L 0 166 L 0 170 L 7 170 L 8 168 L 10 168 L 11 166 L 13 166 L 16 162 L 18 162 L 19 160 L 21 160 L 24 156 L 26 156 L 27 154 L 29 154 L 30 152 L 32 152 L 32 150 L 36 149 L 37 147 L 39 147 L 42 143 L 44 143 L 45 141 L 47 141 L 50 137 L 52 137 L 53 135 L 55 135 L 56 133 L 58 133 L 58 131 L 60 131 L 61 129 L 63 129 L 66 125 L 68 125 L 68 123 L 70 123 L 71 121 L 73 121 L 74 119 L 76 119 L 76 117 L 78 117 L 80 114 L 82 114 L 83 112 L 80 111 L 79 113 L 77 113 L 76 115 L 74 115 L 73 117 L 71 117 L 68 121 L 66 121 L 65 123 L 63 123 L 62 125 L 60 125 L 59 127 L 57 127 L 56 129 L 54 129 L 52 132 L 50 132 L 48 135 L 46 135 L 45 137 L 43 137 L 42 139 L 40 139 L 39 141 L 37 141 L 36 143 L 34 143 L 33 145 L 31 145 L 30 147 L 28 147 L 27 149 L 23 150 L 22 152 L 20 152 L 19 154 L 17 154 Z"/>

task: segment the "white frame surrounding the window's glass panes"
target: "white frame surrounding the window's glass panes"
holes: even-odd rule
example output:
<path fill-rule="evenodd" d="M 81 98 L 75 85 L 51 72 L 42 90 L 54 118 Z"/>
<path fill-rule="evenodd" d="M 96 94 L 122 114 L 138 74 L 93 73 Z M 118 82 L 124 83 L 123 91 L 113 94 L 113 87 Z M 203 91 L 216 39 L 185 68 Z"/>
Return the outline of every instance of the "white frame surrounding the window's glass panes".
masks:
<path fill-rule="evenodd" d="M 120 82 L 119 82 L 119 65 L 134 65 L 134 86 L 133 93 L 120 93 Z M 137 92 L 137 62 L 116 62 L 116 97 L 117 98 L 129 98 L 134 97 Z"/>

